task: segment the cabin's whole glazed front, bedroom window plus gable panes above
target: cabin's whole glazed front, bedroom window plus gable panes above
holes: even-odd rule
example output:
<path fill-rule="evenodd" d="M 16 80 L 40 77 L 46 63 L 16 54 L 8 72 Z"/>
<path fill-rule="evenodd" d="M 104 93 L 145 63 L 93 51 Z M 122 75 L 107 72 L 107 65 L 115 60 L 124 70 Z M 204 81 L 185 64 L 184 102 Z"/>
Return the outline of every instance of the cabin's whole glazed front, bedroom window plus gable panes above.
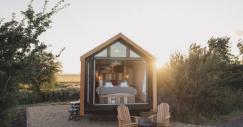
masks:
<path fill-rule="evenodd" d="M 96 105 L 147 103 L 146 61 L 117 41 L 95 55 Z"/>

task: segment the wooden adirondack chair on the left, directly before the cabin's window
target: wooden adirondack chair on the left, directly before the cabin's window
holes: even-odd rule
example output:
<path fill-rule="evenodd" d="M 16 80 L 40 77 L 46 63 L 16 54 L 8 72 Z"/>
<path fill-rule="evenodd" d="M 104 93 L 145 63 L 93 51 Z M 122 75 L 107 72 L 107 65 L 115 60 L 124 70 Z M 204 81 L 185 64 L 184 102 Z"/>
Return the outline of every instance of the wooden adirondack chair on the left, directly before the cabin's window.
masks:
<path fill-rule="evenodd" d="M 119 127 L 137 127 L 139 116 L 130 116 L 129 109 L 126 105 L 121 104 L 117 107 L 117 119 Z"/>

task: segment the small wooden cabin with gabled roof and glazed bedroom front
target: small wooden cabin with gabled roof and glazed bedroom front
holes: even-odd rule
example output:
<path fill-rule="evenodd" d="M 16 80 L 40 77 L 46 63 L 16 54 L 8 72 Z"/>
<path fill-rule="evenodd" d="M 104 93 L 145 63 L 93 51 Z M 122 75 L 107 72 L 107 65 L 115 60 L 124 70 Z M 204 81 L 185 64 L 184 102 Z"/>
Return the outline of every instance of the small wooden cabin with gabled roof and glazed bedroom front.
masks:
<path fill-rule="evenodd" d="M 157 110 L 155 57 L 122 33 L 81 56 L 80 115 Z"/>

